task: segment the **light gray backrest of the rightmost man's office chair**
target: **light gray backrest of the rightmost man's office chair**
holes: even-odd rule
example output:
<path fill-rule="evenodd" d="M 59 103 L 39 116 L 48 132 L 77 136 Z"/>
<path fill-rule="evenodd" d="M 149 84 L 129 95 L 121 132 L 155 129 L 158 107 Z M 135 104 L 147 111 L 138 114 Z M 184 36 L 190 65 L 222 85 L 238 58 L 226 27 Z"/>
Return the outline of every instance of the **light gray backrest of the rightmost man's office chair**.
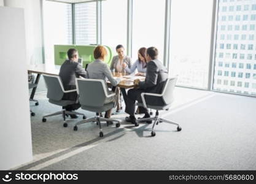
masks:
<path fill-rule="evenodd" d="M 163 88 L 163 101 L 165 101 L 166 105 L 171 104 L 174 101 L 174 88 L 177 82 L 177 77 L 169 78 L 165 82 L 165 86 Z"/>

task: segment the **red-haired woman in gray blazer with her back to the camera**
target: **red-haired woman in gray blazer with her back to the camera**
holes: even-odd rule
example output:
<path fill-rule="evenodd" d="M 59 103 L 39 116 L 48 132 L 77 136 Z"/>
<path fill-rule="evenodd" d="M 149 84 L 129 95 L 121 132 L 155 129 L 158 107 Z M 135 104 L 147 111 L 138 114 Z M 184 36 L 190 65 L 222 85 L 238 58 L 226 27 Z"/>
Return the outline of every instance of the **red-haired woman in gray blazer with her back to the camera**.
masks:
<path fill-rule="evenodd" d="M 114 79 L 109 66 L 104 62 L 107 55 L 105 47 L 99 45 L 94 50 L 95 61 L 87 66 L 87 79 L 108 79 L 112 86 L 118 85 L 121 79 Z M 112 109 L 111 109 L 112 110 Z M 106 111 L 105 118 L 111 118 L 111 110 Z"/>

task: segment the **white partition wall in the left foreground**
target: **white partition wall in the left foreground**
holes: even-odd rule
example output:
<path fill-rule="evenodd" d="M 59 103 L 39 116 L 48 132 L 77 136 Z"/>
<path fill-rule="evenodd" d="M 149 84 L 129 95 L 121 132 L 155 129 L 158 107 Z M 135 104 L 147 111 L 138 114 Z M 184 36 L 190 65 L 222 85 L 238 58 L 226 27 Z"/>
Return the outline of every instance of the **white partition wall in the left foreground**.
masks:
<path fill-rule="evenodd" d="M 0 170 L 32 160 L 23 9 L 0 7 Z"/>

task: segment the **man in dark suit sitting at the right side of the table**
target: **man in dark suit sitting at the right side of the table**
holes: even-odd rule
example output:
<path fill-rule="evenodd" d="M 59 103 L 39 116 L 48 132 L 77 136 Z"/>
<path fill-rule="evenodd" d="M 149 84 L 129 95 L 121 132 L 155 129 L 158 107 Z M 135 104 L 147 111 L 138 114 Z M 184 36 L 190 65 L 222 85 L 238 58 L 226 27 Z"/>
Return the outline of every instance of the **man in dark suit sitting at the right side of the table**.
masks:
<path fill-rule="evenodd" d="M 165 66 L 157 59 L 158 50 L 155 47 L 147 48 L 147 72 L 145 76 L 145 81 L 140 82 L 139 79 L 134 80 L 136 88 L 128 91 L 126 98 L 125 112 L 130 115 L 126 118 L 126 121 L 136 124 L 136 118 L 134 116 L 135 112 L 135 102 L 138 101 L 142 103 L 141 93 L 158 93 L 160 94 L 163 90 L 163 86 L 168 79 L 168 71 Z M 150 100 L 150 98 L 145 97 L 148 104 L 158 105 L 158 103 Z M 144 113 L 143 118 L 149 118 L 149 110 L 145 107 L 139 107 L 139 112 Z M 147 121 L 147 123 L 152 123 Z"/>

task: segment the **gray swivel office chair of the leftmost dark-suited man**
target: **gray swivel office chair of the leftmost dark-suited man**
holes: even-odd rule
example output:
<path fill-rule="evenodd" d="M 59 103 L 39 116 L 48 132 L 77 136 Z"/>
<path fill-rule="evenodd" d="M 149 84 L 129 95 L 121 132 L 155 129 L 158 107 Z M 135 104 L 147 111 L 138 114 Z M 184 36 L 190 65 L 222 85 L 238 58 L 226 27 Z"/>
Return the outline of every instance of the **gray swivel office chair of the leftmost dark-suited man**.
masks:
<path fill-rule="evenodd" d="M 63 84 L 61 82 L 61 79 L 59 76 L 56 75 L 43 75 L 44 76 L 44 80 L 45 80 L 45 84 L 47 87 L 47 98 L 49 99 L 48 101 L 51 104 L 55 104 L 55 105 L 59 105 L 61 107 L 64 107 L 66 105 L 72 105 L 72 104 L 76 104 L 76 101 L 71 101 L 71 100 L 65 100 L 62 99 L 63 94 L 64 93 L 71 93 L 75 90 L 64 90 Z M 49 115 L 45 115 L 42 118 L 42 121 L 45 122 L 46 121 L 46 117 L 53 117 L 55 115 L 62 115 L 63 116 L 63 120 L 64 120 L 64 127 L 68 126 L 68 123 L 66 123 L 66 116 L 68 117 L 68 115 L 82 115 L 83 119 L 86 119 L 85 115 L 83 113 L 79 113 L 79 112 L 70 112 L 68 110 L 62 109 L 61 111 L 55 112 L 55 113 L 51 113 Z"/>

